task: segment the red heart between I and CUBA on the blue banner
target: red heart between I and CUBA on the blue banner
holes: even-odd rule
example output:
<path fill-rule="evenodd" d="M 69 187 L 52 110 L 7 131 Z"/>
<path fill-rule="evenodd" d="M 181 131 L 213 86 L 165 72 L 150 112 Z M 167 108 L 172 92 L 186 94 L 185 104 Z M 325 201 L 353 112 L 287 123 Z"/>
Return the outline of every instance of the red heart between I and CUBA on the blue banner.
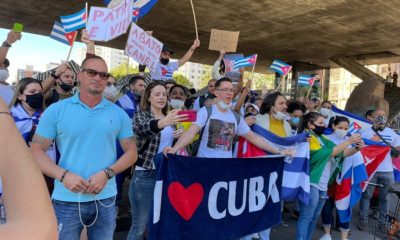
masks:
<path fill-rule="evenodd" d="M 168 187 L 168 198 L 175 210 L 186 221 L 190 220 L 203 200 L 204 189 L 199 183 L 185 188 L 180 182 L 172 182 Z"/>

